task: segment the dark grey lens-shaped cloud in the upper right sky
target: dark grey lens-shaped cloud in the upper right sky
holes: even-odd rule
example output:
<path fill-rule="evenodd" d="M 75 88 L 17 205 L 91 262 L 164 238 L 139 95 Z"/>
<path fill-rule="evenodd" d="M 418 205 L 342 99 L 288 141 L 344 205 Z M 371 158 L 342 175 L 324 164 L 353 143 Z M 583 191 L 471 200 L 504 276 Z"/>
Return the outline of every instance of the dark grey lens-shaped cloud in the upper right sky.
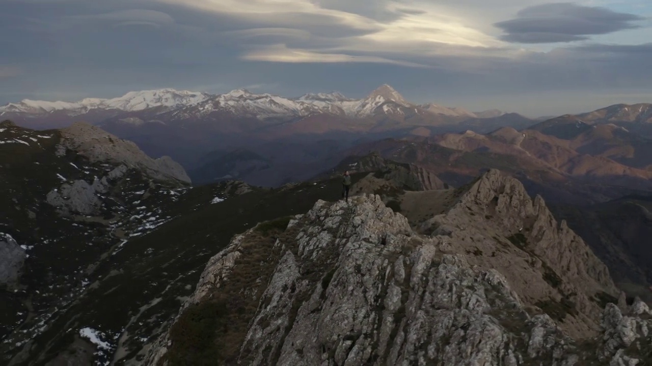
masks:
<path fill-rule="evenodd" d="M 640 27 L 634 21 L 644 17 L 614 12 L 603 7 L 574 3 L 550 3 L 524 8 L 512 20 L 495 23 L 505 31 L 507 42 L 537 44 L 587 40 L 591 35 L 606 35 Z"/>

